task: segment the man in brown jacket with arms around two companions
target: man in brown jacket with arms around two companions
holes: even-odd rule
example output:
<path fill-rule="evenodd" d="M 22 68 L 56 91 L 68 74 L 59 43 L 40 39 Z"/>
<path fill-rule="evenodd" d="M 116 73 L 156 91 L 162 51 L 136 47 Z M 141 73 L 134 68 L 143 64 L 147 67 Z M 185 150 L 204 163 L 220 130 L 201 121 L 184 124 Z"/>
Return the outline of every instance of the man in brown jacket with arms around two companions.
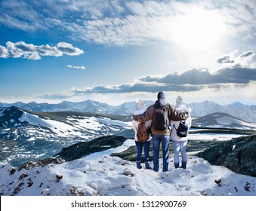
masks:
<path fill-rule="evenodd" d="M 165 93 L 159 92 L 155 104 L 150 105 L 142 115 L 134 115 L 134 121 L 152 121 L 151 133 L 153 137 L 153 170 L 159 171 L 159 148 L 162 143 L 163 172 L 168 171 L 169 163 L 169 142 L 170 142 L 170 121 L 185 120 L 188 113 L 178 113 L 174 106 L 165 102 Z"/>

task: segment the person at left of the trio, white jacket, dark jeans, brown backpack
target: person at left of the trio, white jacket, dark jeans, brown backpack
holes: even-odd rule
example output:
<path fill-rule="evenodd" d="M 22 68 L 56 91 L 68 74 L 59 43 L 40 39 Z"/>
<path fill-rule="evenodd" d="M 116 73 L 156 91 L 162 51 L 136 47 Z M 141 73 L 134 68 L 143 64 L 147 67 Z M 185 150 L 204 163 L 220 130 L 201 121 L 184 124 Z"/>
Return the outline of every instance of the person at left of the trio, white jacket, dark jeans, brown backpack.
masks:
<path fill-rule="evenodd" d="M 142 115 L 143 112 L 146 111 L 145 104 L 141 101 L 137 101 L 137 109 L 134 112 L 134 115 Z M 148 128 L 151 127 L 151 120 L 146 121 L 145 125 Z M 144 156 L 145 156 L 145 168 L 148 170 L 151 170 L 150 167 L 150 139 L 148 139 L 146 142 L 138 142 L 137 140 L 137 127 L 140 124 L 138 121 L 132 121 L 132 128 L 134 129 L 134 140 L 137 147 L 137 158 L 136 158 L 136 166 L 138 169 L 141 169 L 141 154 L 142 150 L 144 149 Z"/>

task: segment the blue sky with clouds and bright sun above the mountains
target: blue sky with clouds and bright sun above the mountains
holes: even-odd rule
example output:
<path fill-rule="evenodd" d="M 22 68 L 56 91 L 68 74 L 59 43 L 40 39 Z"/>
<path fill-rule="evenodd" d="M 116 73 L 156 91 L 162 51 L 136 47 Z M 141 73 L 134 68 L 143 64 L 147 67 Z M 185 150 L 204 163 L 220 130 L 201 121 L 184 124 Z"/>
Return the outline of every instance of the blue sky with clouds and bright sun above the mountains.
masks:
<path fill-rule="evenodd" d="M 0 1 L 0 102 L 256 105 L 254 1 Z"/>

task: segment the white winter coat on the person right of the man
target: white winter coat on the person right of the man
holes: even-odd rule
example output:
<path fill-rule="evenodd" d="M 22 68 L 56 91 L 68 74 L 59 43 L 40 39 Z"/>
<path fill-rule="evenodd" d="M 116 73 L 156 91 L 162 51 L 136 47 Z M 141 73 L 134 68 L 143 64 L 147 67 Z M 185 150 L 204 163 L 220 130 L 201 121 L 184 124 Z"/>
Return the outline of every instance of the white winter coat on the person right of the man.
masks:
<path fill-rule="evenodd" d="M 187 107 L 184 104 L 176 105 L 175 109 L 179 113 L 184 113 L 184 112 L 189 112 L 190 113 L 191 112 L 190 107 Z M 191 116 L 189 116 L 189 118 L 187 118 L 185 123 L 187 124 L 187 126 L 190 129 L 190 127 L 191 127 Z M 183 142 L 183 141 L 187 141 L 188 140 L 188 135 L 187 135 L 187 137 L 179 137 L 179 136 L 177 136 L 177 134 L 176 134 L 177 130 L 175 128 L 179 127 L 179 124 L 180 124 L 180 121 L 171 121 L 170 122 L 170 126 L 171 126 L 171 141 Z"/>

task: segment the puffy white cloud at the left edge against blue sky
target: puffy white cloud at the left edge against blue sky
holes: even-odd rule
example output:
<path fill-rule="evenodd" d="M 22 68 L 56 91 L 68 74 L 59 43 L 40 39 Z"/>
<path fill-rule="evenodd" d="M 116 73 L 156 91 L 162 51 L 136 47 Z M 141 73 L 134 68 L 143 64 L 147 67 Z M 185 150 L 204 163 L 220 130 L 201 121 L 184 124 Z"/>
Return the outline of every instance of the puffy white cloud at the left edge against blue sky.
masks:
<path fill-rule="evenodd" d="M 78 56 L 84 51 L 72 44 L 59 42 L 57 46 L 26 44 L 24 41 L 8 41 L 6 47 L 0 45 L 0 57 L 40 60 L 42 57 Z"/>

